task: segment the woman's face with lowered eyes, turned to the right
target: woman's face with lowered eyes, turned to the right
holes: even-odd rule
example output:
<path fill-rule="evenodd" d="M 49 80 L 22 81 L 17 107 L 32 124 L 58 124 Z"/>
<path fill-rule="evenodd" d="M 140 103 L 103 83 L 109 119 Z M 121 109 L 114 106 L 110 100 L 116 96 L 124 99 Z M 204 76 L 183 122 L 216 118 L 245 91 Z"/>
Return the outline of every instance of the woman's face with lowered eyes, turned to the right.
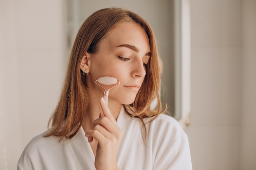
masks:
<path fill-rule="evenodd" d="M 133 22 L 125 22 L 110 31 L 99 44 L 99 51 L 88 57 L 90 91 L 103 95 L 103 89 L 95 84 L 102 76 L 117 78 L 120 84 L 109 91 L 109 102 L 121 104 L 134 102 L 146 75 L 150 58 L 148 36 L 144 29 Z M 106 90 L 112 86 L 104 86 Z"/>

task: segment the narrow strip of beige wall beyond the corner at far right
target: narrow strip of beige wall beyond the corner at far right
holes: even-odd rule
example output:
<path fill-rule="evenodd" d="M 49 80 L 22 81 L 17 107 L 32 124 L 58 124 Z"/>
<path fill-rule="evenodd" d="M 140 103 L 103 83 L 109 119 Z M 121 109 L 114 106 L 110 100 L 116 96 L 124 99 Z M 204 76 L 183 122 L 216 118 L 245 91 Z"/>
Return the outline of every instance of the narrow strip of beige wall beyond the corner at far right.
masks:
<path fill-rule="evenodd" d="M 243 0 L 241 170 L 256 169 L 256 0 Z"/>

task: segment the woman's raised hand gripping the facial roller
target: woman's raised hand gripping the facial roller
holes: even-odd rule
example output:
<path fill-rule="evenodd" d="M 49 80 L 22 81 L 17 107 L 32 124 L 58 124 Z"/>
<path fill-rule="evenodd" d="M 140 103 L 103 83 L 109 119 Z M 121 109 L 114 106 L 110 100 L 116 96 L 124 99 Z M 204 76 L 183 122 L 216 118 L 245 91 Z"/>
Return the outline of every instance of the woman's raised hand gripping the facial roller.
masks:
<path fill-rule="evenodd" d="M 101 115 L 104 116 L 93 122 L 94 127 L 88 130 L 85 136 L 90 139 L 89 142 L 92 141 L 92 137 L 98 141 L 95 168 L 97 170 L 118 170 L 117 151 L 122 132 L 103 98 L 100 104 L 103 111 Z"/>

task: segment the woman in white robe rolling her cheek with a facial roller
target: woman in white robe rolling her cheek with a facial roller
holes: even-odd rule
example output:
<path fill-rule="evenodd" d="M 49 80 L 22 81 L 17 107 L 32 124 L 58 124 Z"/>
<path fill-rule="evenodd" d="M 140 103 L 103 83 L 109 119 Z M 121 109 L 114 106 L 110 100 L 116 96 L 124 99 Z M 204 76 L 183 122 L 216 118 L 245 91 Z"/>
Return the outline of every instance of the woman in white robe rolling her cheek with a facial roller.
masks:
<path fill-rule="evenodd" d="M 108 105 L 95 83 L 103 76 L 120 82 Z M 96 11 L 76 36 L 52 127 L 29 142 L 18 170 L 191 170 L 186 134 L 161 114 L 159 85 L 149 24 L 125 9 Z"/>

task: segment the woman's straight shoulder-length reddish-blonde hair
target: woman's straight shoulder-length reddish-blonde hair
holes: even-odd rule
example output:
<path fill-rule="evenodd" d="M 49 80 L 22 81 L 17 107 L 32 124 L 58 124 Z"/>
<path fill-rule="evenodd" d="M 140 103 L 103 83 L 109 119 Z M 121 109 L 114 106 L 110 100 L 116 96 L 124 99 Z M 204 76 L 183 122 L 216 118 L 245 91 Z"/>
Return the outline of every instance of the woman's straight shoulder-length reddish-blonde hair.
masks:
<path fill-rule="evenodd" d="M 48 123 L 49 127 L 52 121 L 52 128 L 45 137 L 58 136 L 61 139 L 71 139 L 76 135 L 81 127 L 89 99 L 86 76 L 83 76 L 80 69 L 81 60 L 85 52 L 96 53 L 99 50 L 99 43 L 106 37 L 107 33 L 124 22 L 139 24 L 148 35 L 150 43 L 150 60 L 146 67 L 144 82 L 135 101 L 126 105 L 125 110 L 130 116 L 138 117 L 142 122 L 143 118 L 157 117 L 165 110 L 162 110 L 159 97 L 161 80 L 157 44 L 152 28 L 143 18 L 132 11 L 121 8 L 101 9 L 92 13 L 85 20 L 76 35 L 61 96 Z M 155 98 L 158 101 L 157 109 L 150 110 L 150 104 Z"/>

